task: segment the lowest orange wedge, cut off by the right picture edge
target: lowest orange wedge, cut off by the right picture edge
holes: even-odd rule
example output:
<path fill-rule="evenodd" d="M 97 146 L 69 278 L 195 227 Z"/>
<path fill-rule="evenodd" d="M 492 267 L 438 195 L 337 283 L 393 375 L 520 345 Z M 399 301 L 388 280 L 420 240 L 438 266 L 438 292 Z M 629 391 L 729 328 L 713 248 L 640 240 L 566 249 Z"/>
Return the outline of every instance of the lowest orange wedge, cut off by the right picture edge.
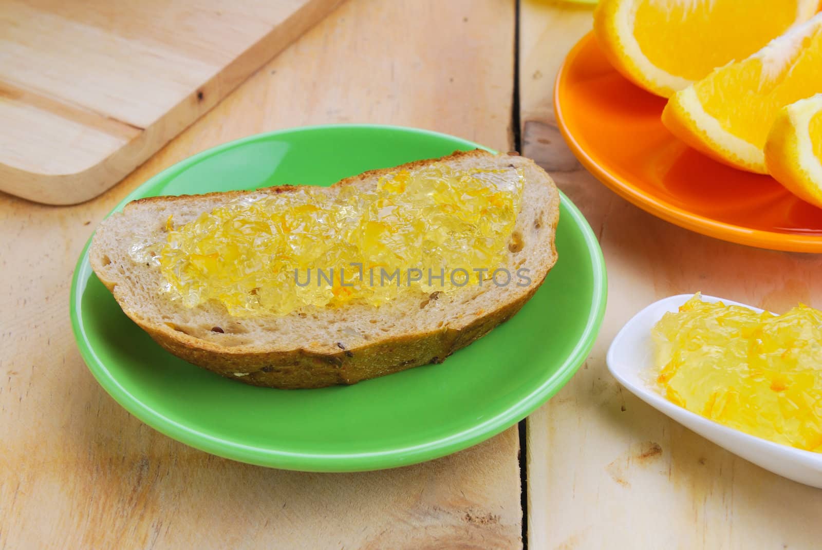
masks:
<path fill-rule="evenodd" d="M 765 141 L 765 165 L 788 191 L 822 208 L 822 94 L 779 111 Z"/>

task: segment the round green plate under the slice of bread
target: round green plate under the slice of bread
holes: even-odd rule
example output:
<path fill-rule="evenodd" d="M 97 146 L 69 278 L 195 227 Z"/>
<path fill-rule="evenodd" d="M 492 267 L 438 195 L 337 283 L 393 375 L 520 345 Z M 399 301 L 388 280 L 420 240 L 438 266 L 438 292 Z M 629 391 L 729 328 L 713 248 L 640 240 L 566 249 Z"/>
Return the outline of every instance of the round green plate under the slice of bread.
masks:
<path fill-rule="evenodd" d="M 478 145 L 411 128 L 339 125 L 271 132 L 206 150 L 138 187 L 144 196 L 329 185 Z M 118 307 L 86 245 L 72 281 L 72 326 L 100 385 L 143 422 L 203 451 L 282 469 L 392 468 L 447 455 L 543 404 L 589 354 L 605 310 L 602 252 L 562 196 L 559 261 L 529 303 L 445 363 L 319 390 L 273 390 L 173 357 Z"/>

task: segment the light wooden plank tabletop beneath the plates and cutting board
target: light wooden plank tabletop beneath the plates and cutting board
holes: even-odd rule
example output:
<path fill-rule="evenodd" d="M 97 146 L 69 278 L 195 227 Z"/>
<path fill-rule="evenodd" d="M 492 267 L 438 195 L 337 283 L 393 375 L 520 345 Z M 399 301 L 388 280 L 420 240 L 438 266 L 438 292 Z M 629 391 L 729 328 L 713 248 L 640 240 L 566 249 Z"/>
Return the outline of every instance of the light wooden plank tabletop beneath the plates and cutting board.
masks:
<path fill-rule="evenodd" d="M 402 469 L 285 472 L 154 432 L 82 363 L 68 288 L 95 224 L 199 150 L 320 122 L 404 124 L 519 148 L 551 171 L 600 238 L 609 269 L 602 333 L 527 424 L 530 548 L 816 545 L 822 491 L 672 423 L 622 391 L 603 359 L 622 323 L 672 293 L 820 307 L 822 260 L 689 233 L 593 180 L 551 108 L 553 76 L 590 28 L 590 9 L 523 0 L 519 45 L 516 18 L 510 0 L 348 0 L 103 196 L 71 207 L 0 196 L 0 548 L 520 548 L 516 428 Z"/>

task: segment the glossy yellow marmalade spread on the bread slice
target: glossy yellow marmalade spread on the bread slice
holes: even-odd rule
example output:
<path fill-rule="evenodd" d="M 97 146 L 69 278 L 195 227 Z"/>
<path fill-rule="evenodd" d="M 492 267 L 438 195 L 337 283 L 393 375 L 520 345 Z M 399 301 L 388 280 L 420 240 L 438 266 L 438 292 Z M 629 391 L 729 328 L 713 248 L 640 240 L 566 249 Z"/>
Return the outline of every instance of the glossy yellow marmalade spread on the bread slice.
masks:
<path fill-rule="evenodd" d="M 216 300 L 247 317 L 377 306 L 487 280 L 505 259 L 522 188 L 521 169 L 434 163 L 367 190 L 244 196 L 178 227 L 169 219 L 164 242 L 138 236 L 131 254 L 159 265 L 164 292 L 187 307 Z"/>

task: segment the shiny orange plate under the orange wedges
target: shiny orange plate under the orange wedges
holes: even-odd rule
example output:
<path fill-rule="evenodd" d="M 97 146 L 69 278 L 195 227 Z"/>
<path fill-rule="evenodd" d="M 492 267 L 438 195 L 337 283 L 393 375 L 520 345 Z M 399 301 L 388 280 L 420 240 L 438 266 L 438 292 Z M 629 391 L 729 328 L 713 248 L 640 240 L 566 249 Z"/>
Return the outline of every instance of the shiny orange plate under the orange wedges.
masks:
<path fill-rule="evenodd" d="M 732 243 L 822 252 L 822 210 L 774 178 L 742 172 L 690 149 L 663 126 L 665 99 L 621 76 L 593 33 L 556 77 L 556 122 L 602 183 L 663 220 Z"/>

